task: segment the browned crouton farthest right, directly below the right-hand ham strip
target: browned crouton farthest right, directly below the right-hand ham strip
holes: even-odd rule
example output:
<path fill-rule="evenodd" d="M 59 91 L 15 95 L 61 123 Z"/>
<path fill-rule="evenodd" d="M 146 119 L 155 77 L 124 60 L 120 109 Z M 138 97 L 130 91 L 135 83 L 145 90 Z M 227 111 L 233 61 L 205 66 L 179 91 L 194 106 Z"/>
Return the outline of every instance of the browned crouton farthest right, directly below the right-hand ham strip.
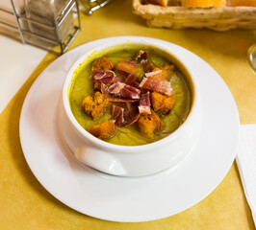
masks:
<path fill-rule="evenodd" d="M 166 96 L 158 92 L 151 93 L 151 102 L 155 111 L 159 111 L 163 114 L 167 114 L 175 103 L 173 95 Z"/>

